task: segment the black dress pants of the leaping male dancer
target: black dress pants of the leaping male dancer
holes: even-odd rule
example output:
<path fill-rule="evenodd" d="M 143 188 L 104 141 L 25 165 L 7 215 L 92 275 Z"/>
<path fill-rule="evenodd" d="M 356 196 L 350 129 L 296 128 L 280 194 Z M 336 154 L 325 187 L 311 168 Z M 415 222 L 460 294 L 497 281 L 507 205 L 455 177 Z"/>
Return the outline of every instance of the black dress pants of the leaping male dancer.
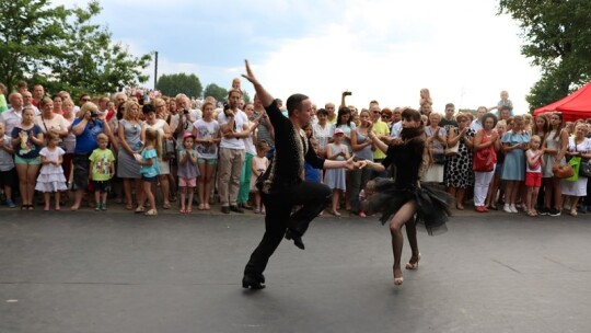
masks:
<path fill-rule="evenodd" d="M 274 191 L 274 187 L 278 190 Z M 328 186 L 303 181 L 290 185 L 274 184 L 269 194 L 263 194 L 267 211 L 265 234 L 251 255 L 244 275 L 256 277 L 263 274 L 287 229 L 303 236 L 310 222 L 328 205 L 331 195 Z M 300 205 L 302 207 L 292 215 L 293 206 Z"/>

